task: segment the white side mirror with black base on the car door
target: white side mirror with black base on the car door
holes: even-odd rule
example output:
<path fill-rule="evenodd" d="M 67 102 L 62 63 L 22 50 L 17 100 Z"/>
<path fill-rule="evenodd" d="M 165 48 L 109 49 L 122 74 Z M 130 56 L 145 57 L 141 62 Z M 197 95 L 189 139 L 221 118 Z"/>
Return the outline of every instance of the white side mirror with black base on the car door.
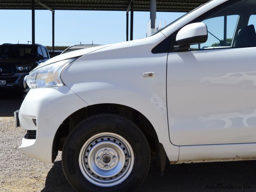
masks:
<path fill-rule="evenodd" d="M 177 33 L 174 50 L 188 50 L 190 45 L 205 43 L 207 38 L 207 26 L 204 23 L 191 23 Z"/>

